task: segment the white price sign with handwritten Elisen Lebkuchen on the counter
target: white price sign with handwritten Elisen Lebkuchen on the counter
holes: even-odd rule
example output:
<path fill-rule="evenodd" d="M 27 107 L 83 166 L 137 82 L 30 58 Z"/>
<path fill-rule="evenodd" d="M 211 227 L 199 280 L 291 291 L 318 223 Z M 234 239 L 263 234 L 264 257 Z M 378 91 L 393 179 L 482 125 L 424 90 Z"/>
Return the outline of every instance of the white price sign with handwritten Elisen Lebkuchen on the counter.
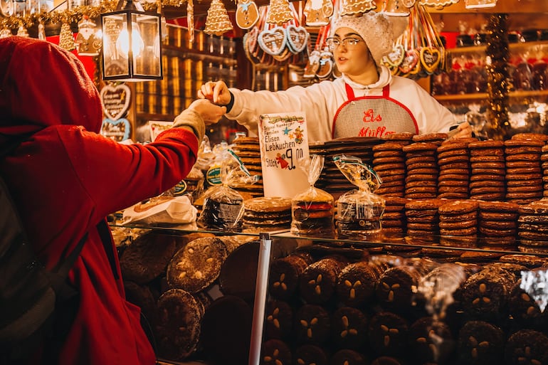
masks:
<path fill-rule="evenodd" d="M 308 188 L 300 159 L 309 159 L 305 115 L 265 114 L 259 118 L 260 164 L 264 196 L 293 198 Z"/>

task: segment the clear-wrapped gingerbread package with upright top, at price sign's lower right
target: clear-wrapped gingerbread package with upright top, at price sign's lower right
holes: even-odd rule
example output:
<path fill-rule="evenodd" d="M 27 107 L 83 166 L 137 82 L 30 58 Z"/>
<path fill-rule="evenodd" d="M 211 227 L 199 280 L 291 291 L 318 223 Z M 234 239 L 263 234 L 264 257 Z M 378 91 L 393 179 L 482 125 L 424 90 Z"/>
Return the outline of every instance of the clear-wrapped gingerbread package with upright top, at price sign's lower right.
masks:
<path fill-rule="evenodd" d="M 334 238 L 334 199 L 314 184 L 320 177 L 324 157 L 312 154 L 300 159 L 300 167 L 307 173 L 309 188 L 291 200 L 291 233 L 297 236 Z"/>

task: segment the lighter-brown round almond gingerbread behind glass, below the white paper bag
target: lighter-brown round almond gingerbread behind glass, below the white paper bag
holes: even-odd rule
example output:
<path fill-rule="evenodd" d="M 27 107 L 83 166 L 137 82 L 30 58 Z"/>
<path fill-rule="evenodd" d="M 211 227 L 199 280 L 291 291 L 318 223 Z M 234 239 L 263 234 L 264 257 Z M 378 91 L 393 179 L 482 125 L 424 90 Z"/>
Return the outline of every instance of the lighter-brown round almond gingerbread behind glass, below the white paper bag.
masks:
<path fill-rule="evenodd" d="M 191 293 L 213 283 L 228 256 L 226 245 L 218 238 L 197 238 L 181 248 L 167 266 L 167 283 Z"/>

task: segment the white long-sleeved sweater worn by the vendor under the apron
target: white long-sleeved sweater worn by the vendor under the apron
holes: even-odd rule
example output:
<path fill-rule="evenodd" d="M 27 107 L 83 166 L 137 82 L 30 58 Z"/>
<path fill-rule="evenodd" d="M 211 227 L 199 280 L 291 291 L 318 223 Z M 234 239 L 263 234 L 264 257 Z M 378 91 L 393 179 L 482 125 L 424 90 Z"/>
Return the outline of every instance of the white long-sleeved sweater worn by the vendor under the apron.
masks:
<path fill-rule="evenodd" d="M 234 104 L 226 117 L 257 134 L 258 120 L 262 114 L 305 112 L 309 142 L 325 142 L 332 139 L 335 113 L 348 100 L 344 83 L 352 86 L 355 97 L 382 95 L 382 88 L 389 84 L 390 97 L 411 110 L 419 134 L 447 132 L 451 125 L 455 125 L 453 114 L 415 81 L 392 76 L 385 66 L 381 66 L 379 73 L 379 81 L 372 85 L 354 83 L 343 75 L 342 78 L 322 81 L 306 88 L 293 86 L 276 92 L 230 89 Z"/>

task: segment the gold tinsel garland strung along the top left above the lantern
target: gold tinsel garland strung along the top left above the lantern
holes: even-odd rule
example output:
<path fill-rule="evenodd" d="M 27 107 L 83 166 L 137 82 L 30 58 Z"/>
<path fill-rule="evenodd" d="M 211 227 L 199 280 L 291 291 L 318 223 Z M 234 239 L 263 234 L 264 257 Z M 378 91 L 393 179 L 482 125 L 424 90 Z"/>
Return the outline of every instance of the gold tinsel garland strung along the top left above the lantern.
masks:
<path fill-rule="evenodd" d="M 70 10 L 51 11 L 28 14 L 26 16 L 6 16 L 0 17 L 0 28 L 17 29 L 19 26 L 31 28 L 38 26 L 38 23 L 43 24 L 58 24 L 58 23 L 78 23 L 84 16 L 89 18 L 98 18 L 100 14 L 115 11 L 118 1 L 105 0 L 101 1 L 100 6 L 75 6 Z M 141 3 L 145 11 L 157 12 L 157 3 Z M 186 0 L 162 0 L 162 6 L 183 6 Z"/>

